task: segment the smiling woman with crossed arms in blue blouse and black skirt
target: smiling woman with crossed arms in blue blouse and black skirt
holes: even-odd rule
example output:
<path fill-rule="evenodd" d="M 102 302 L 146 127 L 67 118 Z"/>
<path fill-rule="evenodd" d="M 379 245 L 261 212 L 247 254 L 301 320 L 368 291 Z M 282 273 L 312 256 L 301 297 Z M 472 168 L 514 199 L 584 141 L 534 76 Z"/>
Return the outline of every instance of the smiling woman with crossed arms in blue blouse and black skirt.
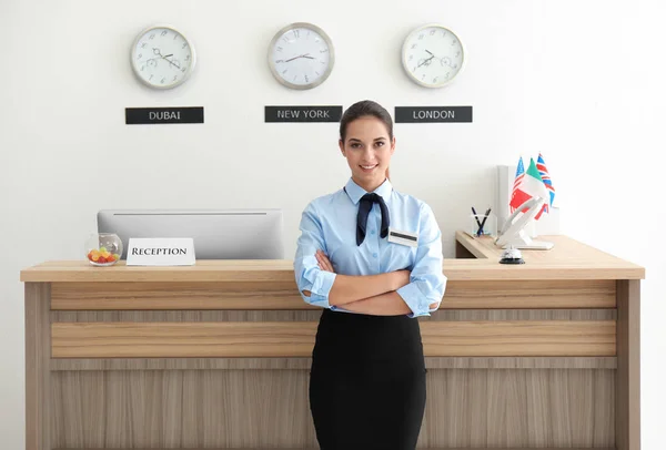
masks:
<path fill-rule="evenodd" d="M 294 258 L 303 299 L 324 308 L 310 371 L 322 450 L 412 450 L 425 409 L 415 317 L 442 300 L 441 233 L 432 209 L 393 190 L 393 121 L 381 105 L 350 106 L 340 151 L 352 176 L 303 212 Z"/>

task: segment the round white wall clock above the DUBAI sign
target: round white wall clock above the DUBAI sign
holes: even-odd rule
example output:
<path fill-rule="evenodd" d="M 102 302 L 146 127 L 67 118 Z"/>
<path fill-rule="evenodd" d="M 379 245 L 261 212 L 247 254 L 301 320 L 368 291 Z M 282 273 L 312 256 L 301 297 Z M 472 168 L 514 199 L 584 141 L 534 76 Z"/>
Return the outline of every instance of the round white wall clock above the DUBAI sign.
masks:
<path fill-rule="evenodd" d="M 151 88 L 170 89 L 184 82 L 194 70 L 194 49 L 176 30 L 153 27 L 132 47 L 132 69 Z"/>

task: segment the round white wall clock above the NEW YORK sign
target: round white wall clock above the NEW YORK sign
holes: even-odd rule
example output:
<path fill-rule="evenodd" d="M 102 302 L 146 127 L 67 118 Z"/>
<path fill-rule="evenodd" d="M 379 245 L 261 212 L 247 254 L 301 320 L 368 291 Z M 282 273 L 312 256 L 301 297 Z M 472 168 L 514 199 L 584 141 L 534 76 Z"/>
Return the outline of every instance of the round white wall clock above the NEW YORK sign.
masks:
<path fill-rule="evenodd" d="M 329 78 L 335 55 L 326 33 L 310 23 L 280 30 L 269 47 L 273 76 L 292 89 L 312 89 Z"/>

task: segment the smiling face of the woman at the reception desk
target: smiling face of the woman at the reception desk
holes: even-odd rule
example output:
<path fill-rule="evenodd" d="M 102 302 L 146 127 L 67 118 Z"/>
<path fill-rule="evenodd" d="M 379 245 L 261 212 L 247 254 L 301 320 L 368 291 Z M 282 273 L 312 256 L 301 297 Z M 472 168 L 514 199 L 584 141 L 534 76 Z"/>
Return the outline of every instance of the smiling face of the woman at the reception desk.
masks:
<path fill-rule="evenodd" d="M 359 117 L 346 125 L 340 151 L 352 170 L 352 180 L 366 192 L 373 192 L 386 180 L 386 168 L 395 151 L 395 137 L 375 116 Z"/>

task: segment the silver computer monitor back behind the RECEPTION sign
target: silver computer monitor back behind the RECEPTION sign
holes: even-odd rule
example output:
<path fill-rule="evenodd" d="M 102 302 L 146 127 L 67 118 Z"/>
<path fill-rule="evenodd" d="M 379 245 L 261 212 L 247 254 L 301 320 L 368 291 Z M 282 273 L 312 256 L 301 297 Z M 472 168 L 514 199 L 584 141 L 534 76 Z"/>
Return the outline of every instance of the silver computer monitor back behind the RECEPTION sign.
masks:
<path fill-rule="evenodd" d="M 98 232 L 130 237 L 192 237 L 196 259 L 283 259 L 282 209 L 102 209 Z"/>

